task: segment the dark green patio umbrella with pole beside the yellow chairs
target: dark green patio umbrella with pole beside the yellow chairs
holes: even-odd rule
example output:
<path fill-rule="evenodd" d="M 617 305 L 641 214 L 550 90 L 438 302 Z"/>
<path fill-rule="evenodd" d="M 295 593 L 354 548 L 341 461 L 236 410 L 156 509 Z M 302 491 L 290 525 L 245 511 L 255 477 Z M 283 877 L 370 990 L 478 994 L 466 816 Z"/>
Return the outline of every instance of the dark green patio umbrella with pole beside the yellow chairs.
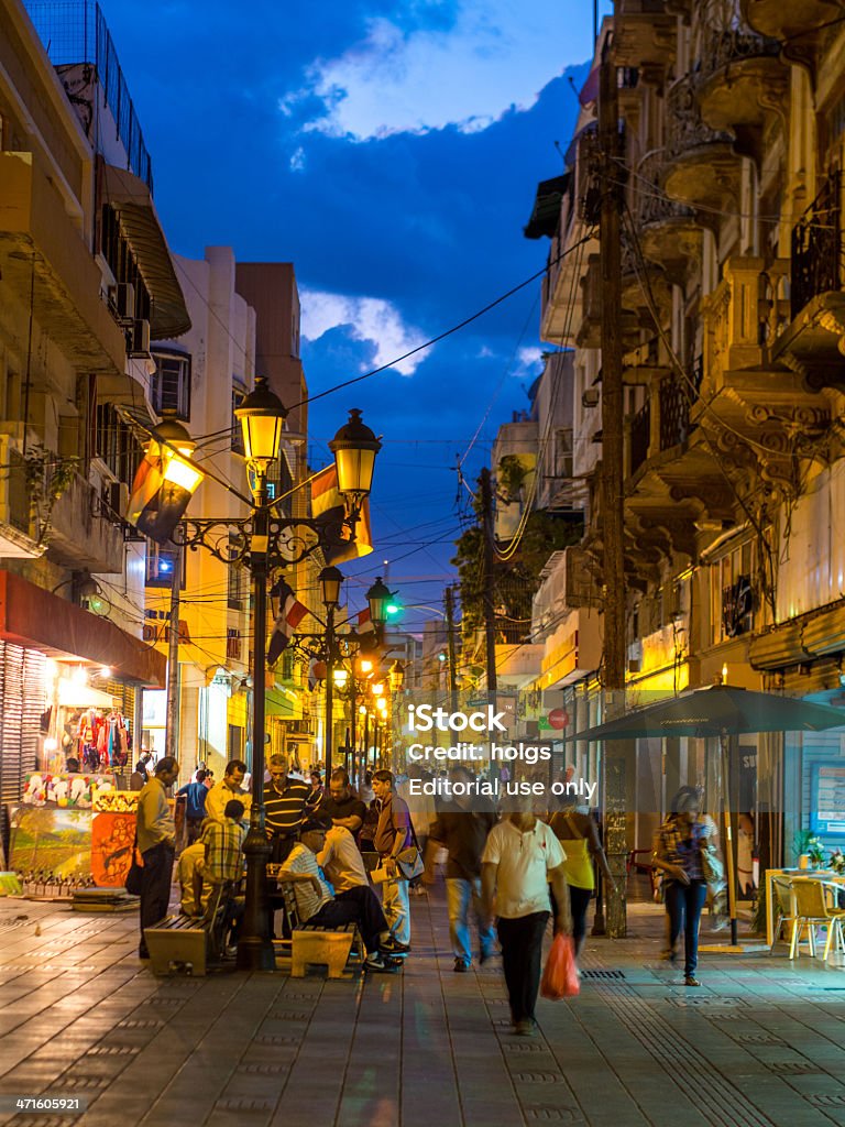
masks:
<path fill-rule="evenodd" d="M 845 712 L 737 685 L 711 685 L 635 709 L 616 720 L 579 731 L 576 739 L 638 739 L 649 736 L 714 736 L 728 779 L 730 736 L 759 731 L 824 731 L 845 725 Z M 727 786 L 727 784 L 726 784 Z M 731 845 L 730 800 L 724 792 L 726 859 L 731 946 L 737 946 L 737 893 Z"/>

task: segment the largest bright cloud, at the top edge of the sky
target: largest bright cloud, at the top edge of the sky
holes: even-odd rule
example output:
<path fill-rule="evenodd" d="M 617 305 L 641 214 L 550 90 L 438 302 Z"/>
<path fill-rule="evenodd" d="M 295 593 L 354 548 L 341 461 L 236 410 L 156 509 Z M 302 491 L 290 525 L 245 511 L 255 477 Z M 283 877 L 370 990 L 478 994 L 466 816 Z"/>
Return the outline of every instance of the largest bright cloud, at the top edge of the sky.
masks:
<path fill-rule="evenodd" d="M 486 130 L 508 110 L 531 108 L 541 88 L 576 61 L 567 44 L 572 24 L 586 21 L 580 2 L 461 0 L 447 28 L 371 19 L 362 41 L 312 62 L 306 85 L 285 95 L 279 110 L 291 116 L 317 96 L 322 112 L 304 131 L 357 141 L 448 125 Z"/>

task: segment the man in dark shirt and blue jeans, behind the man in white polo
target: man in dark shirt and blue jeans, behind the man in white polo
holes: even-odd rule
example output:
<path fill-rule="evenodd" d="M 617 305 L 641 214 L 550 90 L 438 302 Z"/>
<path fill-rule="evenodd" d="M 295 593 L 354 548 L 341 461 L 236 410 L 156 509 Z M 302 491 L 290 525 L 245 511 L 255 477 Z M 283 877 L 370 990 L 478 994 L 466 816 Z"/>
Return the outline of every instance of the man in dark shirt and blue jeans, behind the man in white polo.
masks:
<path fill-rule="evenodd" d="M 465 786 L 474 777 L 464 766 L 450 771 L 450 781 Z M 478 805 L 481 799 L 475 800 Z M 487 837 L 496 825 L 496 811 L 489 804 L 486 808 L 472 809 L 469 793 L 454 795 L 444 802 L 428 833 L 426 846 L 426 871 L 424 880 L 434 884 L 434 859 L 438 845 L 448 852 L 446 862 L 446 903 L 448 906 L 448 934 L 455 971 L 463 973 L 472 966 L 470 939 L 470 908 L 475 917 L 479 939 L 479 962 L 484 964 L 493 953 L 493 929 L 484 912 L 481 897 L 481 854 Z"/>

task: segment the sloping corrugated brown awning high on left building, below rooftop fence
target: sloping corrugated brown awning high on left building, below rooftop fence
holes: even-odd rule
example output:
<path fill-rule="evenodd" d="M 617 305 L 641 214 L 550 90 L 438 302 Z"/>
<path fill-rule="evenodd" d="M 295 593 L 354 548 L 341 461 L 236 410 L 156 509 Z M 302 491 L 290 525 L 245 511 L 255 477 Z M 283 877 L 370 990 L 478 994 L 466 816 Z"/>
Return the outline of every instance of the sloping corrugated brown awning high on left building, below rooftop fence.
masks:
<path fill-rule="evenodd" d="M 114 165 L 105 165 L 103 202 L 117 212 L 137 268 L 150 292 L 151 338 L 170 340 L 187 332 L 190 318 L 150 189 L 132 172 Z"/>

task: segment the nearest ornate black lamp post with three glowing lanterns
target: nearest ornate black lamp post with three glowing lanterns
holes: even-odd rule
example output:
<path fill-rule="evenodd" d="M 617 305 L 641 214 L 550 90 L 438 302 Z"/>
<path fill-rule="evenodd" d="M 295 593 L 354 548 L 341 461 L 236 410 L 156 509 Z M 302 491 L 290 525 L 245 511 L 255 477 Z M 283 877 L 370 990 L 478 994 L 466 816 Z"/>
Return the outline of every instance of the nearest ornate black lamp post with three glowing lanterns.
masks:
<path fill-rule="evenodd" d="M 282 451 L 287 411 L 263 376 L 256 378 L 254 391 L 235 410 L 243 428 L 243 445 L 250 470 L 251 511 L 242 520 L 186 520 L 181 524 L 181 548 L 196 551 L 203 548 L 216 559 L 229 565 L 246 565 L 252 578 L 252 806 L 249 833 L 243 844 L 247 858 L 247 887 L 243 923 L 238 940 L 238 967 L 243 970 L 272 970 L 275 968 L 273 942 L 269 934 L 267 898 L 267 860 L 270 848 L 265 831 L 264 769 L 265 769 L 265 691 L 267 648 L 267 587 L 270 570 L 299 564 L 317 548 L 337 542 L 338 530 L 327 529 L 314 517 L 287 517 L 277 512 L 277 502 L 270 500 L 267 488 L 268 471 Z M 187 434 L 187 432 L 186 432 Z M 155 435 L 153 435 L 155 437 Z M 177 441 L 171 441 L 171 437 Z M 185 435 L 164 437 L 164 486 L 193 492 L 203 477 L 203 468 L 188 454 Z M 381 443 L 364 425 L 361 411 L 353 410 L 349 421 L 329 444 L 336 459 L 338 488 L 347 503 L 346 523 L 355 534 L 361 507 L 373 483 L 375 455 Z M 213 474 L 210 474 L 213 476 Z M 237 490 L 232 490 L 237 494 Z M 184 494 L 183 494 L 184 496 Z M 247 498 L 237 494 L 241 500 Z M 140 523 L 140 522 L 139 522 Z M 238 533 L 232 536 L 232 530 Z M 172 530 L 171 530 L 172 531 Z M 168 533 L 169 534 L 169 533 Z M 163 538 L 167 539 L 167 535 Z M 339 598 L 343 576 L 337 568 L 333 582 L 333 605 Z M 324 594 L 332 596 L 331 579 Z M 332 612 L 333 613 L 333 612 Z M 333 627 L 332 627 L 333 629 Z"/>

